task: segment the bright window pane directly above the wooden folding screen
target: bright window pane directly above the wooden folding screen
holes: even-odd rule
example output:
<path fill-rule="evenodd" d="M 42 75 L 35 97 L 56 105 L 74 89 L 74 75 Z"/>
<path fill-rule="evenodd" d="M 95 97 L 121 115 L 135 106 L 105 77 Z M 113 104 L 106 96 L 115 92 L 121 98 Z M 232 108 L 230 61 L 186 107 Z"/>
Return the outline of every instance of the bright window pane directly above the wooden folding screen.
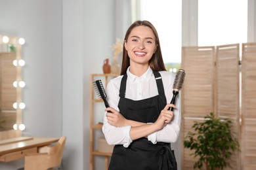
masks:
<path fill-rule="evenodd" d="M 247 42 L 247 1 L 198 0 L 198 46 Z"/>

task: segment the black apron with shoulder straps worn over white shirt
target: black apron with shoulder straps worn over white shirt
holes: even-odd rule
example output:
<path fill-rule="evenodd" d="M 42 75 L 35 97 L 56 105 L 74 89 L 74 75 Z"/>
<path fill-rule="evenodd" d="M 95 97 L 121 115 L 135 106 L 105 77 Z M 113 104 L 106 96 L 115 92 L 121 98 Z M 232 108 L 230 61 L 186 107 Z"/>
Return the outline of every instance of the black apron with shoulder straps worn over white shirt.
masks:
<path fill-rule="evenodd" d="M 156 122 L 161 110 L 166 105 L 161 75 L 153 72 L 158 86 L 154 97 L 133 101 L 125 98 L 127 74 L 123 75 L 119 90 L 119 112 L 129 120 L 137 122 Z M 173 170 L 177 162 L 170 143 L 152 144 L 145 137 L 133 141 L 128 148 L 122 144 L 114 146 L 109 170 Z"/>

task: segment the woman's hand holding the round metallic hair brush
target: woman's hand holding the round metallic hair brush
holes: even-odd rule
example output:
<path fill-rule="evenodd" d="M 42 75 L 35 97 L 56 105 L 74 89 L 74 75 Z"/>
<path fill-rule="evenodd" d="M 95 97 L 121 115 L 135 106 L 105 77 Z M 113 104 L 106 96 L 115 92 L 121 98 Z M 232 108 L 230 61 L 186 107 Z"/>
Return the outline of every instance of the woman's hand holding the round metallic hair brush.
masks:
<path fill-rule="evenodd" d="M 160 115 L 158 116 L 158 120 L 154 123 L 158 130 L 162 129 L 166 124 L 171 122 L 174 118 L 173 111 L 169 110 L 170 107 L 176 109 L 176 106 L 173 104 L 167 104 L 163 110 L 161 110 Z"/>

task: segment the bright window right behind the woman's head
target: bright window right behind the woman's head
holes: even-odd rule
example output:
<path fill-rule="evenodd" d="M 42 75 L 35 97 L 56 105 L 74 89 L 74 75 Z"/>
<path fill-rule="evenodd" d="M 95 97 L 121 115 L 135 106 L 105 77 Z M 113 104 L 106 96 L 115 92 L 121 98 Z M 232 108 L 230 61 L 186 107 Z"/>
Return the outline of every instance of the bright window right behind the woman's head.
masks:
<path fill-rule="evenodd" d="M 135 20 L 148 20 L 156 27 L 167 70 L 180 65 L 182 1 L 140 0 L 138 7 Z"/>

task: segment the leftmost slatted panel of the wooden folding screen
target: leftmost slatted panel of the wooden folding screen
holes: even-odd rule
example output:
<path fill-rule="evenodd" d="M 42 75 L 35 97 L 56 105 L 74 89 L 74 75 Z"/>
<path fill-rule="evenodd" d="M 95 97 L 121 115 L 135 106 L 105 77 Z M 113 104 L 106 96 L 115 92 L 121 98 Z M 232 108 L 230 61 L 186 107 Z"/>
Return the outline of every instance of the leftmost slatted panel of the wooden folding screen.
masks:
<path fill-rule="evenodd" d="M 202 120 L 214 111 L 215 47 L 182 47 L 182 69 L 186 78 L 181 92 L 181 141 L 194 121 Z M 183 145 L 182 145 L 183 146 Z M 188 148 L 182 147 L 181 169 L 193 169 L 195 158 Z"/>

